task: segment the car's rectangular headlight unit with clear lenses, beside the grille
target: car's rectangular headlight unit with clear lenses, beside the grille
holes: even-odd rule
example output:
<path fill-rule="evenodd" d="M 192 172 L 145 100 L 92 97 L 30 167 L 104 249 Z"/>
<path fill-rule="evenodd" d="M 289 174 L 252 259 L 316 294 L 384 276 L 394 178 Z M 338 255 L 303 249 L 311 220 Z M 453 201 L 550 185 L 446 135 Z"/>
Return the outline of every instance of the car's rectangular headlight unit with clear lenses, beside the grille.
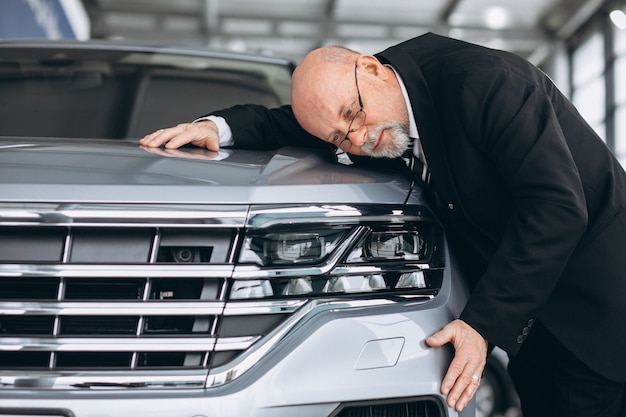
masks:
<path fill-rule="evenodd" d="M 256 229 L 245 236 L 239 263 L 257 264 L 259 279 L 236 280 L 230 298 L 435 295 L 442 248 L 442 230 L 432 221 Z"/>

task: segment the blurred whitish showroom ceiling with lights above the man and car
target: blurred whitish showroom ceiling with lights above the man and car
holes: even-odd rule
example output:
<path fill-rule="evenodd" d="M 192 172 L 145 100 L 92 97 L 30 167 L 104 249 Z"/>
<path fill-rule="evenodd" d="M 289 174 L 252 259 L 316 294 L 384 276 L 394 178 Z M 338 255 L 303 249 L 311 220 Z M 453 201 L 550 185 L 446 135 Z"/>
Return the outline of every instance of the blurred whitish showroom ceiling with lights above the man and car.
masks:
<path fill-rule="evenodd" d="M 375 53 L 427 31 L 539 64 L 608 0 L 83 0 L 93 38 L 266 51 Z M 488 23 L 492 13 L 500 20 Z"/>

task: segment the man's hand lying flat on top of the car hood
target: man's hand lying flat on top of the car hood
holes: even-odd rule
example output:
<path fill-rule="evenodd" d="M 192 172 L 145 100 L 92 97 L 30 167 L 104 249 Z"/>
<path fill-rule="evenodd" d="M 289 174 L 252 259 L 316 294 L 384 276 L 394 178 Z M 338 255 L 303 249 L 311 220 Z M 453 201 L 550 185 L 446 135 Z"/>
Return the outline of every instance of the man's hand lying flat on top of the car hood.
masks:
<path fill-rule="evenodd" d="M 182 123 L 167 129 L 159 129 L 143 137 L 139 144 L 148 148 L 157 148 L 165 144 L 167 149 L 177 149 L 191 143 L 199 148 L 219 151 L 219 131 L 215 123 L 202 120 L 196 123 Z"/>

